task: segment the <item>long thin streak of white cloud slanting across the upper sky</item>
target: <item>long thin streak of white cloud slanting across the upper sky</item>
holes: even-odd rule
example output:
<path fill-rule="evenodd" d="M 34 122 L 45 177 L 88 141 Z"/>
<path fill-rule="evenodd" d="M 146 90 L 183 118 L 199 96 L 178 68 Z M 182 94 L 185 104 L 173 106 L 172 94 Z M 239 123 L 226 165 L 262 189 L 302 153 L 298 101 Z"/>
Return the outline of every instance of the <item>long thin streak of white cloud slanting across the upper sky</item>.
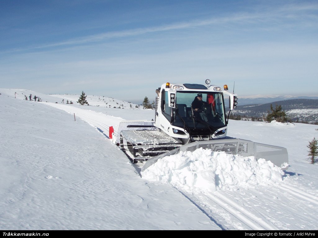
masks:
<path fill-rule="evenodd" d="M 108 39 L 114 38 L 123 38 L 130 36 L 141 36 L 148 33 L 164 32 L 164 31 L 176 31 L 184 29 L 193 29 L 202 26 L 221 26 L 223 24 L 244 24 L 244 23 L 260 23 L 267 21 L 279 21 L 282 19 L 294 19 L 299 18 L 301 21 L 306 21 L 304 16 L 304 11 L 313 12 L 318 9 L 318 4 L 289 4 L 282 6 L 280 8 L 266 9 L 262 11 L 253 11 L 253 12 L 240 12 L 230 16 L 223 17 L 212 17 L 210 19 L 201 19 L 201 20 L 192 20 L 188 22 L 179 22 L 172 24 L 165 24 L 153 27 L 146 28 L 136 28 L 129 30 L 119 30 L 119 31 L 110 31 L 100 34 L 93 34 L 85 37 L 77 37 L 73 39 L 68 39 L 66 41 L 51 43 L 51 44 L 42 44 L 37 46 L 31 46 L 24 49 L 14 49 L 12 51 L 23 51 L 23 50 L 37 50 L 37 49 L 46 49 L 54 47 L 63 47 L 63 46 L 73 46 L 73 45 L 82 45 L 90 43 L 99 43 L 104 42 Z M 314 15 L 315 16 L 315 15 Z"/>

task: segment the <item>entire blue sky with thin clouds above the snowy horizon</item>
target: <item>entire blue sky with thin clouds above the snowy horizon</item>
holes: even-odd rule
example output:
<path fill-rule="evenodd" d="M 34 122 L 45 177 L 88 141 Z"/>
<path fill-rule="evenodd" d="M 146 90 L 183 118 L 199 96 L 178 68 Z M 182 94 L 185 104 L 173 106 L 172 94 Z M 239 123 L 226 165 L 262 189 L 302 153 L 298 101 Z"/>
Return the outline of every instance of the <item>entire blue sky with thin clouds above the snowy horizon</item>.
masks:
<path fill-rule="evenodd" d="M 165 82 L 318 96 L 317 1 L 0 0 L 0 88 L 151 101 Z"/>

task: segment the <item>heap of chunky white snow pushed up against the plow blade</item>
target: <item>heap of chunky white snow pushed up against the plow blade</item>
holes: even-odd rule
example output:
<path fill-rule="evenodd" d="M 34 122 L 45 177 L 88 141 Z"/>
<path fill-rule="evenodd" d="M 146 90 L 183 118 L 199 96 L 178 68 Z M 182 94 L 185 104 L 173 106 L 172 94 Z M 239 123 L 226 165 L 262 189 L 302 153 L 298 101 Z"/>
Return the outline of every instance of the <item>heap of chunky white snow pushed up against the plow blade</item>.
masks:
<path fill-rule="evenodd" d="M 144 179 L 170 183 L 187 192 L 255 188 L 279 183 L 282 175 L 284 171 L 270 161 L 202 148 L 166 156 L 142 172 Z"/>

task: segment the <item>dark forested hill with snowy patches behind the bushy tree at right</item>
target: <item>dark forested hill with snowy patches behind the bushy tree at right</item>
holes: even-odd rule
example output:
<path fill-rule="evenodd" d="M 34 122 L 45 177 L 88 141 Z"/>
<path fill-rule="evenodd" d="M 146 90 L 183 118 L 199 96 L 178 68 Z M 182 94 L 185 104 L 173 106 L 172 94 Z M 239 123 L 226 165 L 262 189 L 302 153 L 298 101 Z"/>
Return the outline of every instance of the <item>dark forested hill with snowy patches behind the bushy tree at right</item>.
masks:
<path fill-rule="evenodd" d="M 318 122 L 318 99 L 289 99 L 263 104 L 238 104 L 233 114 L 249 118 L 263 118 L 270 111 L 271 104 L 273 108 L 276 105 L 281 105 L 292 122 Z"/>

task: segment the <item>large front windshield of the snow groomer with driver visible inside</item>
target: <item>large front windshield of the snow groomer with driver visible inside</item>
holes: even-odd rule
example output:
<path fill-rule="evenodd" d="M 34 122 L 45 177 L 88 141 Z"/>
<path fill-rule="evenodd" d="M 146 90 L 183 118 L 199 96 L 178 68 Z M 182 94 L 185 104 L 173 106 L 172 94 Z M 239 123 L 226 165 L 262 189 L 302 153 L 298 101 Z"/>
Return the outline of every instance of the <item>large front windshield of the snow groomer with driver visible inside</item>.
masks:
<path fill-rule="evenodd" d="M 198 97 L 198 94 L 202 94 L 202 97 Z M 223 103 L 221 93 L 176 92 L 176 111 L 172 125 L 189 129 L 224 127 Z"/>

